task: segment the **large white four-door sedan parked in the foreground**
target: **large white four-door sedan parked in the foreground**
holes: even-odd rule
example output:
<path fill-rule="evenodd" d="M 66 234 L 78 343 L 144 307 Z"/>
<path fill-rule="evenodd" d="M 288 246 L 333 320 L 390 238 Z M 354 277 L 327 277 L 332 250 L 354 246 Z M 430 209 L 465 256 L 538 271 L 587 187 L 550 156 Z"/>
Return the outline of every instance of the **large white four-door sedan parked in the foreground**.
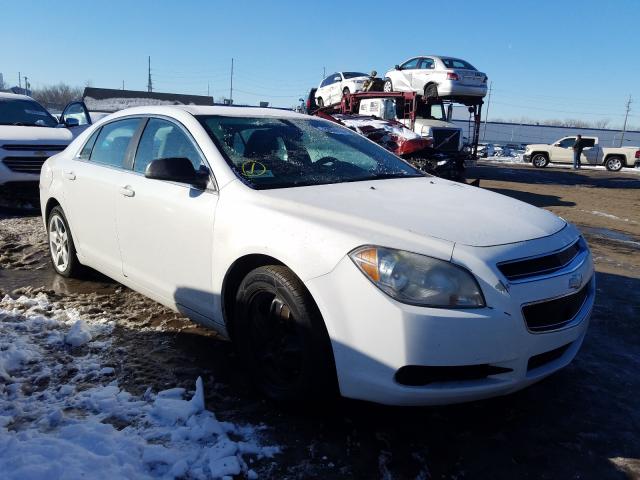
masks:
<path fill-rule="evenodd" d="M 571 224 L 293 112 L 123 110 L 40 191 L 60 275 L 92 267 L 228 335 L 279 400 L 507 394 L 574 358 L 594 302 Z"/>

